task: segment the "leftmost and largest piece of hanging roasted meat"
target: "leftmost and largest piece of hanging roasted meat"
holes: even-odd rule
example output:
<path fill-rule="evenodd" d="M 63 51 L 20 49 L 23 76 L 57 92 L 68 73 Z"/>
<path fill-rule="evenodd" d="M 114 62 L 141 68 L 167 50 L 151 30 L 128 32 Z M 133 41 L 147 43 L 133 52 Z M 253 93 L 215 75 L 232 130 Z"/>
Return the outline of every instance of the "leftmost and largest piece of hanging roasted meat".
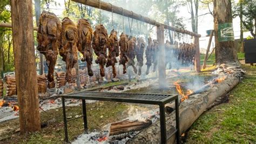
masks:
<path fill-rule="evenodd" d="M 61 23 L 54 13 L 43 11 L 39 18 L 37 31 L 37 49 L 45 56 L 48 70 L 48 88 L 54 88 L 54 67 L 61 42 Z"/>

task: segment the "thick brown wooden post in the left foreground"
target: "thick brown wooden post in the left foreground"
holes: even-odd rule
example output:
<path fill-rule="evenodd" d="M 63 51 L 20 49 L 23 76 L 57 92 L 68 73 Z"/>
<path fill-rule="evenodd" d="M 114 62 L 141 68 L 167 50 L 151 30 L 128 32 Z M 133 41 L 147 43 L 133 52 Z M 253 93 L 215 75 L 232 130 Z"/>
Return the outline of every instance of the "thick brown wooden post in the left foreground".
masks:
<path fill-rule="evenodd" d="M 12 37 L 21 133 L 41 129 L 37 94 L 32 0 L 11 0 Z"/>

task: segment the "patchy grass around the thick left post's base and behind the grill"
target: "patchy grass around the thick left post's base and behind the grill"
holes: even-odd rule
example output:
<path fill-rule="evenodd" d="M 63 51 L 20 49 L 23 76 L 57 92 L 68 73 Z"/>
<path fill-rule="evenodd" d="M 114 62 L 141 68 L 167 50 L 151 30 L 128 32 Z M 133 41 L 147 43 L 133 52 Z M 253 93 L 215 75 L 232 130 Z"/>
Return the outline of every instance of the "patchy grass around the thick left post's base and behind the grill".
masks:
<path fill-rule="evenodd" d="M 128 106 L 122 103 L 97 102 L 86 105 L 89 131 L 102 129 L 106 124 L 125 118 L 125 110 Z M 80 116 L 81 106 L 67 107 L 67 117 Z M 64 141 L 64 124 L 62 108 L 41 113 L 41 122 L 48 124 L 40 132 L 21 135 L 15 132 L 19 127 L 18 119 L 0 124 L 4 132 L 0 134 L 0 143 L 62 143 Z M 6 129 L 7 128 L 7 129 Z M 6 129 L 6 130 L 5 130 Z M 69 140 L 83 133 L 83 120 L 70 121 L 68 123 Z"/>

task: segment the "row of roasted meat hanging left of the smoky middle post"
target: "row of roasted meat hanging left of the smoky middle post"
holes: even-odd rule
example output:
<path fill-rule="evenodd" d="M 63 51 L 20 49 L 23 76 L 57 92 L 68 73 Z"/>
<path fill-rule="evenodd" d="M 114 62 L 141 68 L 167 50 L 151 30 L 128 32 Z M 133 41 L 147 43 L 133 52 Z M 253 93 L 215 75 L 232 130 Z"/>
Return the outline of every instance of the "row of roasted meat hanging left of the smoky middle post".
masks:
<path fill-rule="evenodd" d="M 75 24 L 71 19 L 65 17 L 62 22 L 54 13 L 43 11 L 39 18 L 39 27 L 37 32 L 37 49 L 45 55 L 48 71 L 48 87 L 54 88 L 55 82 L 53 73 L 57 61 L 58 53 L 66 63 L 65 81 L 71 82 L 71 69 L 78 61 L 77 50 L 83 54 L 82 61 L 86 61 L 87 74 L 93 76 L 91 68 L 93 56 L 92 49 L 97 55 L 95 62 L 99 64 L 100 75 L 105 76 L 104 66 L 112 67 L 113 77 L 116 77 L 115 64 L 123 65 L 123 73 L 126 73 L 126 67 L 132 66 L 134 73 L 142 74 L 143 55 L 145 50 L 145 41 L 143 38 L 136 39 L 125 33 L 120 35 L 118 40 L 117 31 L 112 30 L 110 35 L 103 25 L 97 25 L 95 31 L 88 20 L 79 19 Z M 146 74 L 153 63 L 153 72 L 156 71 L 158 41 L 148 38 L 146 47 Z M 107 53 L 108 50 L 108 53 Z M 183 51 L 181 51 L 183 52 Z M 184 54 L 181 54 L 181 58 Z M 137 58 L 138 70 L 134 59 Z M 185 58 L 184 58 L 185 59 Z M 186 60 L 185 60 L 186 61 Z"/>

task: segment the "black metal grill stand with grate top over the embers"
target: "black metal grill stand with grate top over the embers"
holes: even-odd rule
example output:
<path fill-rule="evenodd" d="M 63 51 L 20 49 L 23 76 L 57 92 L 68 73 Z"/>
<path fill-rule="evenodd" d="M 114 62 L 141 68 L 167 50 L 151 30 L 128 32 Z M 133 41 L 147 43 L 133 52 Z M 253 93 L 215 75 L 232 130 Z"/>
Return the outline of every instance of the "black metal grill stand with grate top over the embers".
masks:
<path fill-rule="evenodd" d="M 166 125 L 165 125 L 165 104 L 170 103 L 173 100 L 175 100 L 176 131 L 174 131 L 174 133 L 176 133 L 177 143 L 180 143 L 180 139 L 179 139 L 179 100 L 178 100 L 178 95 L 83 91 L 83 92 L 76 92 L 76 93 L 71 93 L 69 95 L 61 95 L 61 96 L 62 96 L 62 108 L 63 108 L 63 118 L 64 118 L 65 142 L 69 142 L 68 127 L 67 127 L 68 121 L 72 121 L 72 120 L 83 117 L 84 132 L 88 133 L 87 117 L 86 117 L 86 103 L 85 103 L 85 100 L 87 99 L 87 100 L 100 100 L 100 101 L 107 101 L 107 102 L 159 105 L 161 143 L 166 143 L 167 142 Z M 70 120 L 66 120 L 65 98 L 82 99 L 83 116 L 80 116 L 80 117 L 74 118 L 74 119 L 70 119 Z M 170 137 L 174 133 L 172 133 L 170 135 Z"/>

